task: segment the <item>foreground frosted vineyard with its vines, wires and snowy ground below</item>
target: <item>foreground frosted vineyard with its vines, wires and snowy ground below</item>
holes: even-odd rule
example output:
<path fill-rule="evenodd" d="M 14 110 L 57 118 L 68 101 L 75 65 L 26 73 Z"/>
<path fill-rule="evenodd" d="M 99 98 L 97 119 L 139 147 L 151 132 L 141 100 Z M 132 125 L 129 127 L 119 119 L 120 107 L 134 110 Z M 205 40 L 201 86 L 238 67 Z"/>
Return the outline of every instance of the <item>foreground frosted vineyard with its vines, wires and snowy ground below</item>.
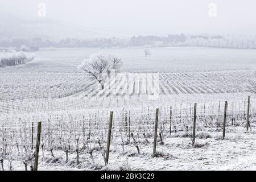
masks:
<path fill-rule="evenodd" d="M 240 143 L 243 143 L 245 148 L 248 144 L 253 147 L 256 142 L 254 97 L 250 98 L 249 104 L 247 98 L 228 101 L 226 112 L 225 102 L 199 102 L 196 118 L 193 103 L 175 103 L 158 108 L 158 114 L 156 107 L 152 106 L 115 109 L 113 120 L 110 119 L 112 109 L 2 113 L 2 168 L 29 170 L 30 166 L 34 167 L 39 121 L 42 122 L 39 169 L 193 169 L 192 166 L 196 165 L 199 165 L 197 168 L 208 169 L 214 163 L 214 169 L 217 169 L 216 165 L 229 165 L 229 158 L 239 157 L 247 160 L 247 157 L 253 157 L 250 156 L 250 150 L 236 151 L 236 148 L 232 147 L 236 147 L 236 144 L 240 146 Z M 248 116 L 249 125 L 246 130 Z M 110 121 L 112 131 L 107 162 L 105 154 Z M 156 152 L 153 154 L 154 143 Z M 216 159 L 210 159 L 210 156 L 221 155 L 217 153 L 225 146 L 231 147 L 230 156 L 218 156 L 223 161 L 212 161 Z M 215 151 L 212 147 L 216 147 Z M 243 156 L 240 156 L 241 152 Z M 191 156 L 189 163 L 187 156 L 181 154 L 197 155 L 198 159 Z M 135 161 L 141 162 L 142 165 L 136 166 Z M 251 162 L 247 164 L 249 168 L 254 166 Z M 106 163 L 109 165 L 105 166 Z M 187 163 L 187 166 L 183 167 L 182 163 Z M 181 166 L 177 166 L 178 164 Z"/>

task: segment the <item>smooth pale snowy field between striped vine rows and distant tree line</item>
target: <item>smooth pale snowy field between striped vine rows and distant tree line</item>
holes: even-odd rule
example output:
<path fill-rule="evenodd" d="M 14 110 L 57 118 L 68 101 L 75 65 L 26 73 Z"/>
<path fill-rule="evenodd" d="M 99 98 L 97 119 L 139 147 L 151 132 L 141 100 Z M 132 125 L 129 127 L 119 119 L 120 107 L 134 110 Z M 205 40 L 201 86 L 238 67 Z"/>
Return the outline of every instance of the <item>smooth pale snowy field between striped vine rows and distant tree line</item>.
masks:
<path fill-rule="evenodd" d="M 147 48 L 46 48 L 35 52 L 38 61 L 26 65 L 28 71 L 77 72 L 77 65 L 93 53 L 106 52 L 121 57 L 122 72 L 223 71 L 255 68 L 254 49 L 207 47 Z M 40 65 L 40 67 L 38 67 Z M 51 67 L 49 67 L 51 66 Z M 19 71 L 17 69 L 16 71 Z"/>

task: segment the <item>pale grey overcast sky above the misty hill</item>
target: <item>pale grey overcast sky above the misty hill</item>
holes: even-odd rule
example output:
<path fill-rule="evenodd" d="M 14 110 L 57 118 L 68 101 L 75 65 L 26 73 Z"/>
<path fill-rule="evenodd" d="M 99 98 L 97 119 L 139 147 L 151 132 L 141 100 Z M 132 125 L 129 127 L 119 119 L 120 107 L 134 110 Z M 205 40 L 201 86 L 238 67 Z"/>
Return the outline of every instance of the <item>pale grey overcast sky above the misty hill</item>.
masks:
<path fill-rule="evenodd" d="M 46 19 L 90 30 L 123 35 L 256 34 L 255 0 L 0 0 L 0 9 L 21 19 L 39 19 L 38 4 L 46 4 Z M 210 17 L 209 3 L 217 16 Z"/>

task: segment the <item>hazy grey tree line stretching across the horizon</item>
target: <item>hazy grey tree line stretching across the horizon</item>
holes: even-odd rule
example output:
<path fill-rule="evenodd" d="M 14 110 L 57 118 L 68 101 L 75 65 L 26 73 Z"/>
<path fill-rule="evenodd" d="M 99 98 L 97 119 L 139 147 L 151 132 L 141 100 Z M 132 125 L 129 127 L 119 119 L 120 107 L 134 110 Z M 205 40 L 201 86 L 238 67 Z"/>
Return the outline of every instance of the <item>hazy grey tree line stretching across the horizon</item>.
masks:
<path fill-rule="evenodd" d="M 167 35 L 167 36 L 133 36 L 130 39 L 121 38 L 64 38 L 59 41 L 42 38 L 1 38 L 0 47 L 169 47 L 169 46 L 201 46 L 220 48 L 255 49 L 255 37 L 208 36 L 208 35 Z"/>

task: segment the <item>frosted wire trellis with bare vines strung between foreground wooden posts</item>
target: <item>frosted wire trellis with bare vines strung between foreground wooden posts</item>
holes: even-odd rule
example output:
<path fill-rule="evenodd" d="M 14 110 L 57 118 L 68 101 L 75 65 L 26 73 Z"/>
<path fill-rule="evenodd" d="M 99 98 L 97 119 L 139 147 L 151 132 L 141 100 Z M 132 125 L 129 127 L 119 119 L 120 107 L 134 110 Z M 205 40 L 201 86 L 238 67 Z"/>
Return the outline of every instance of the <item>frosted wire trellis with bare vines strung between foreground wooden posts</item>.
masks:
<path fill-rule="evenodd" d="M 250 100 L 250 99 L 249 99 Z M 111 144 L 123 146 L 133 144 L 139 153 L 138 143 L 152 144 L 164 142 L 164 138 L 182 133 L 193 138 L 194 132 L 207 129 L 224 130 L 228 127 L 245 127 L 255 122 L 256 100 L 238 100 L 228 102 L 225 110 L 224 102 L 208 102 L 197 104 L 175 104 L 159 108 L 143 107 L 139 109 L 120 109 L 113 111 L 110 130 L 110 110 L 90 110 L 87 113 L 64 113 L 56 115 L 18 115 L 0 118 L 0 162 L 22 160 L 24 165 L 34 163 L 37 126 L 42 121 L 40 132 L 40 149 L 66 152 L 88 152 L 92 154 L 95 146 L 100 146 L 104 159 L 108 151 L 108 135 Z M 249 113 L 249 115 L 248 115 Z M 40 118 L 40 119 L 39 119 Z M 157 125 L 156 125 L 157 123 Z M 196 123 L 196 128 L 194 123 Z M 194 129 L 195 128 L 195 129 Z M 195 131 L 194 131 L 195 130 Z M 158 138 L 158 140 L 156 140 Z M 193 141 L 195 142 L 195 140 Z M 44 158 L 44 154 L 42 154 Z M 106 162 L 106 161 L 105 161 Z M 78 162 L 79 163 L 79 162 Z"/>

